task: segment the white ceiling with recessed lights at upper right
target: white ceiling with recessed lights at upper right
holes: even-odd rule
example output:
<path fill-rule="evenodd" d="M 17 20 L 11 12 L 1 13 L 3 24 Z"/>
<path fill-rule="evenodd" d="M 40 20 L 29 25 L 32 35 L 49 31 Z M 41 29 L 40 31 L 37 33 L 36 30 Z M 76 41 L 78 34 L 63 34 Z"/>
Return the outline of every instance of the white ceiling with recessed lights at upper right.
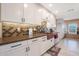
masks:
<path fill-rule="evenodd" d="M 64 20 L 79 18 L 79 3 L 43 3 L 45 8 Z"/>

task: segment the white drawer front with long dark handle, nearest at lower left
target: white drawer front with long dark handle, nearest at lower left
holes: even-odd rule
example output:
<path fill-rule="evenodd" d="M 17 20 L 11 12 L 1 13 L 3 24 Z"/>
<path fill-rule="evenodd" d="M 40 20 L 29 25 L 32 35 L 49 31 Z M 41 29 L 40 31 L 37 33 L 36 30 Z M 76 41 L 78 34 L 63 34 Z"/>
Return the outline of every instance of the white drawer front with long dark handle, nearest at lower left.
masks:
<path fill-rule="evenodd" d="M 19 48 L 22 46 L 27 46 L 27 41 L 21 41 L 21 42 L 2 45 L 0 46 L 0 52 L 12 50 L 12 49 Z"/>

